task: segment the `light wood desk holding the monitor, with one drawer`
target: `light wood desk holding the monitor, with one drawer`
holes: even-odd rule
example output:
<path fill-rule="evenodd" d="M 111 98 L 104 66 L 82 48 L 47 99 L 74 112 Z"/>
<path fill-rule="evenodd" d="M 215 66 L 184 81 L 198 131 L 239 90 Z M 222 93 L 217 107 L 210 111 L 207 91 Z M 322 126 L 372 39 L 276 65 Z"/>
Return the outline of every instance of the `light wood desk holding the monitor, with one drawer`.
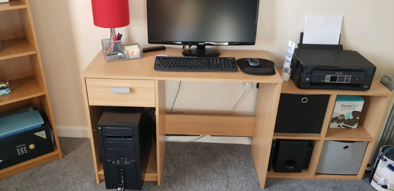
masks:
<path fill-rule="evenodd" d="M 146 155 L 145 181 L 161 184 L 165 152 L 165 134 L 198 134 L 223 136 L 251 136 L 251 151 L 261 187 L 267 174 L 276 111 L 279 103 L 282 78 L 253 76 L 238 72 L 164 72 L 153 69 L 154 55 L 182 56 L 182 49 L 144 53 L 144 59 L 106 63 L 102 52 L 82 73 L 86 111 L 92 142 L 97 183 L 104 180 L 100 159 L 97 123 L 105 106 L 156 107 L 157 149 Z M 264 51 L 221 50 L 221 57 L 269 59 Z M 165 80 L 259 82 L 255 117 L 168 115 L 165 113 Z M 111 94 L 111 87 L 130 87 L 130 94 Z M 212 122 L 212 123 L 210 123 Z M 235 124 L 229 126 L 229 123 Z M 187 124 L 187 126 L 186 126 Z M 156 153 L 154 153 L 157 151 Z M 142 161 L 142 160 L 141 160 Z"/>

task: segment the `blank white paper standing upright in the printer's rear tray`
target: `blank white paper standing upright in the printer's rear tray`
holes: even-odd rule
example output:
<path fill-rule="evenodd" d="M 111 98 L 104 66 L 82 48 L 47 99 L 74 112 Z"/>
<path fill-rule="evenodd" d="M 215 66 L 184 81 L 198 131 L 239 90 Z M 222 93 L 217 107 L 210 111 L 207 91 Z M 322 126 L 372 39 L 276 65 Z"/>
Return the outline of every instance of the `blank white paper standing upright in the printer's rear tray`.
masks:
<path fill-rule="evenodd" d="M 343 16 L 306 15 L 303 44 L 338 44 Z"/>

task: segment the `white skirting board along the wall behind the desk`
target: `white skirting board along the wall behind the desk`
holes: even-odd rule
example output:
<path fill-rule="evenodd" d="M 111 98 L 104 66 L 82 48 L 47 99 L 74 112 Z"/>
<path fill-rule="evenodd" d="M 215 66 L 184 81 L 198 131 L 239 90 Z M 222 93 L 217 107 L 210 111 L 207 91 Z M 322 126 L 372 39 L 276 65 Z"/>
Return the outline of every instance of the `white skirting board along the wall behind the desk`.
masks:
<path fill-rule="evenodd" d="M 57 126 L 58 136 L 60 137 L 79 137 L 79 138 L 90 138 L 89 127 L 72 127 L 72 126 Z M 167 141 L 172 140 L 192 140 L 198 136 L 169 136 Z M 205 143 L 231 143 L 231 144 L 246 144 L 250 145 L 250 137 L 228 137 L 228 136 L 209 136 L 206 135 L 193 142 L 205 142 Z"/>

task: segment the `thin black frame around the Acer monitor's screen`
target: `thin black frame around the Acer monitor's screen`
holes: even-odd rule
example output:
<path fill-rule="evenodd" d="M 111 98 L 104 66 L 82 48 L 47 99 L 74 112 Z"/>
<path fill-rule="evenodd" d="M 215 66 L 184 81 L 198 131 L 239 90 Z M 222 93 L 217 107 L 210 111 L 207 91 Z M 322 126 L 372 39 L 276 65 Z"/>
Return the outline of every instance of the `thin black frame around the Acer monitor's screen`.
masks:
<path fill-rule="evenodd" d="M 257 36 L 257 24 L 259 19 L 259 6 L 260 0 L 257 0 L 257 10 L 256 10 L 256 28 L 255 28 L 255 38 L 253 42 L 197 42 L 197 41 L 153 41 L 150 39 L 150 27 L 149 27 L 149 2 L 146 1 L 146 14 L 147 14 L 147 27 L 148 27 L 148 43 L 149 44 L 168 44 L 168 45 L 206 45 L 206 46 L 242 46 L 242 45 L 255 45 Z"/>

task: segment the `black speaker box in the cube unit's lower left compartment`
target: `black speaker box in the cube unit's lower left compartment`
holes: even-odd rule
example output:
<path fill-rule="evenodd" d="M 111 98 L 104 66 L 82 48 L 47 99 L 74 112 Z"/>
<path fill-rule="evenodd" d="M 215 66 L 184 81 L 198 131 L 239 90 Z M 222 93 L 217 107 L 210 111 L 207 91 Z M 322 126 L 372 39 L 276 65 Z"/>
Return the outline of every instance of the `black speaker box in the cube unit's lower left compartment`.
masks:
<path fill-rule="evenodd" d="M 276 139 L 272 167 L 275 172 L 301 172 L 309 141 Z"/>

